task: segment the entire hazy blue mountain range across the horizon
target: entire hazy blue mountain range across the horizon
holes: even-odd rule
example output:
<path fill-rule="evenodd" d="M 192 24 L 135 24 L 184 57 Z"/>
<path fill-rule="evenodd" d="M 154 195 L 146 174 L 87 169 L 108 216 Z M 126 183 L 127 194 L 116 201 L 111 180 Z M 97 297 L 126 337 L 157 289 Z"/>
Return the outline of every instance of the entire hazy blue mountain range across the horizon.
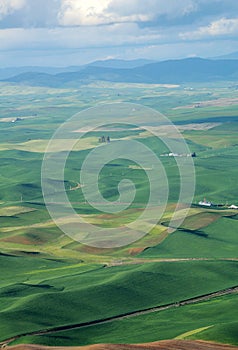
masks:
<path fill-rule="evenodd" d="M 146 62 L 146 64 L 144 60 L 129 62 L 109 60 L 94 62 L 87 66 L 62 68 L 62 70 L 45 68 L 45 71 L 37 71 L 37 67 L 34 67 L 34 71 L 22 72 L 2 81 L 33 86 L 75 87 L 100 80 L 148 84 L 238 80 L 238 60 L 236 59 L 187 58 Z"/>

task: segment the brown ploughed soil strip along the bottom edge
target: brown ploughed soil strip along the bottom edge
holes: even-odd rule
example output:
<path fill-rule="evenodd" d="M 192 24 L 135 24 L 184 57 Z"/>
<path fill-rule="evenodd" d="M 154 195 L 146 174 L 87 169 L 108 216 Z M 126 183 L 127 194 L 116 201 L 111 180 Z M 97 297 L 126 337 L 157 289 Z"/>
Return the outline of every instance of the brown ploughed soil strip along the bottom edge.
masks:
<path fill-rule="evenodd" d="M 80 347 L 44 347 L 41 345 L 16 345 L 8 350 L 234 350 L 236 346 L 204 341 L 164 340 L 147 344 L 98 344 Z"/>

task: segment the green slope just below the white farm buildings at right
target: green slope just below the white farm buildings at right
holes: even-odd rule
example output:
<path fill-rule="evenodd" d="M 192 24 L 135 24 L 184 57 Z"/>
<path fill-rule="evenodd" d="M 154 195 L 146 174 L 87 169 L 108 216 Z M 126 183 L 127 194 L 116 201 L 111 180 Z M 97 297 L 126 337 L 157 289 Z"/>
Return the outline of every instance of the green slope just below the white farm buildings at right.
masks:
<path fill-rule="evenodd" d="M 194 222 L 198 217 L 192 217 Z M 237 256 L 238 221 L 222 217 L 201 230 L 180 229 L 161 244 L 140 254 L 161 258 L 234 258 Z"/>

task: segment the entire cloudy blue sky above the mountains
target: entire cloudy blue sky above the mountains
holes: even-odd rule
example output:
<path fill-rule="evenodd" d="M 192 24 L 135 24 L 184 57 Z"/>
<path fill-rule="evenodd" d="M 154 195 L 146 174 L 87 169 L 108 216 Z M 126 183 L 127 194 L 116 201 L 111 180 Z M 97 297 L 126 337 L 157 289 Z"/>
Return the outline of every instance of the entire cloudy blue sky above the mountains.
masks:
<path fill-rule="evenodd" d="M 237 0 L 0 0 L 0 67 L 238 51 Z"/>

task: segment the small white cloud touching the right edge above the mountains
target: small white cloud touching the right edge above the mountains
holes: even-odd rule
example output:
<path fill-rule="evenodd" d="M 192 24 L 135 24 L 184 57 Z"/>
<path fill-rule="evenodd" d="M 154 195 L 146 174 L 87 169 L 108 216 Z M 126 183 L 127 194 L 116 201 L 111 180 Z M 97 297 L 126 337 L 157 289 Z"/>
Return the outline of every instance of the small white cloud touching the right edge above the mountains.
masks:
<path fill-rule="evenodd" d="M 221 18 L 213 21 L 208 26 L 200 27 L 195 31 L 181 33 L 180 37 L 185 40 L 204 39 L 206 37 L 237 35 L 238 18 L 227 19 Z"/>

